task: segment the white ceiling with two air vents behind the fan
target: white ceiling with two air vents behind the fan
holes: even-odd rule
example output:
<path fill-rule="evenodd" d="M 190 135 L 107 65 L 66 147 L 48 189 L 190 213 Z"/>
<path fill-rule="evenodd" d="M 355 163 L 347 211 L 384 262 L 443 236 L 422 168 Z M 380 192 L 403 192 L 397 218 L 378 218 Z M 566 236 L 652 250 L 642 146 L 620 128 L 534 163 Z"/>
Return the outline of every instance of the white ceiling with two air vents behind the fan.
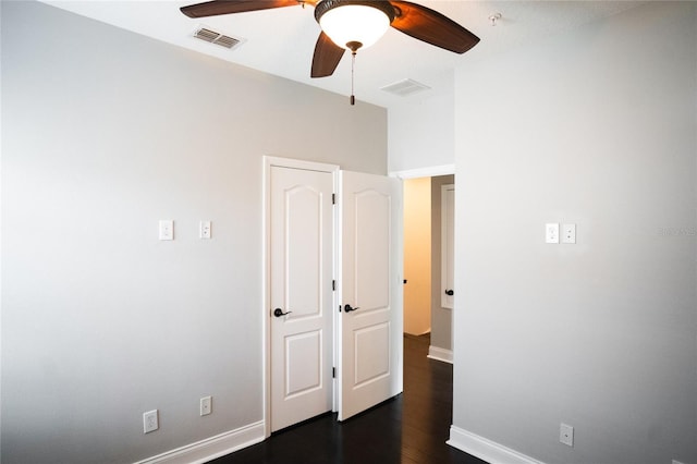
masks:
<path fill-rule="evenodd" d="M 166 42 L 218 57 L 233 63 L 286 77 L 330 91 L 351 93 L 351 56 L 345 53 L 334 74 L 310 78 L 309 69 L 319 25 L 311 7 L 289 7 L 249 13 L 193 20 L 179 8 L 198 1 L 52 1 L 45 3 L 72 11 Z M 543 36 L 563 33 L 588 22 L 634 8 L 646 1 L 469 1 L 417 0 L 445 14 L 477 35 L 481 41 L 464 54 L 441 50 L 390 29 L 372 47 L 358 50 L 355 94 L 358 101 L 382 107 L 449 91 L 452 72 L 467 60 L 481 60 Z M 496 26 L 489 16 L 501 13 Z M 193 37 L 205 25 L 244 39 L 229 50 Z M 380 88 L 404 78 L 431 87 L 400 97 Z M 428 93 L 428 94 L 427 94 Z"/>

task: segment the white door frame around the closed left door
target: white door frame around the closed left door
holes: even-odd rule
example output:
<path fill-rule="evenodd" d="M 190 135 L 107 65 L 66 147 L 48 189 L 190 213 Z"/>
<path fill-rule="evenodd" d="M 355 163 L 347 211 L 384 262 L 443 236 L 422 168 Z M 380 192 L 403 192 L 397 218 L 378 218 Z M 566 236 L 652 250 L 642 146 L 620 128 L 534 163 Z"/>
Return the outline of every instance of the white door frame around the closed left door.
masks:
<path fill-rule="evenodd" d="M 305 161 L 292 158 L 280 158 L 273 156 L 265 156 L 264 157 L 264 193 L 262 193 L 262 215 L 261 215 L 261 230 L 264 231 L 264 243 L 262 243 L 262 252 L 261 252 L 261 272 L 264 282 L 262 291 L 264 297 L 261 298 L 262 307 L 259 314 L 261 315 L 261 327 L 264 328 L 262 335 L 262 347 L 261 347 L 261 357 L 264 363 L 264 370 L 261 373 L 261 379 L 264 382 L 264 437 L 269 438 L 271 436 L 271 318 L 269 317 L 269 312 L 271 310 L 270 302 L 271 302 L 271 233 L 270 233 L 270 223 L 271 223 L 271 168 L 288 168 L 288 169 L 301 169 L 307 171 L 320 171 L 320 172 L 329 172 L 332 174 L 332 188 L 333 192 L 337 192 L 337 187 L 339 184 L 339 166 L 338 164 L 329 164 L 322 162 L 314 162 L 314 161 Z M 337 208 L 333 211 L 332 218 L 332 278 L 337 278 Z M 337 307 L 337 292 L 333 292 L 332 295 L 332 307 Z M 332 329 L 337 330 L 337 312 L 330 312 L 332 318 Z M 332 361 L 333 365 L 337 365 L 337 350 L 335 350 L 335 341 L 332 349 Z M 337 408 L 337 379 L 332 379 L 332 411 Z"/>

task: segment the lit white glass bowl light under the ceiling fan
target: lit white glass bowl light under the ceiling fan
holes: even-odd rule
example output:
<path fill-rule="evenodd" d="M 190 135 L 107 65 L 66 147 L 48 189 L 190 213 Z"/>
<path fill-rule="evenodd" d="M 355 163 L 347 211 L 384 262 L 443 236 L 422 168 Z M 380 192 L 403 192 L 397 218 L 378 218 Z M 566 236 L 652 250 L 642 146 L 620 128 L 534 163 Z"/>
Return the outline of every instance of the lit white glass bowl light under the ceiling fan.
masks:
<path fill-rule="evenodd" d="M 394 20 L 394 8 L 387 1 L 322 0 L 315 19 L 338 47 L 355 51 L 384 35 Z"/>

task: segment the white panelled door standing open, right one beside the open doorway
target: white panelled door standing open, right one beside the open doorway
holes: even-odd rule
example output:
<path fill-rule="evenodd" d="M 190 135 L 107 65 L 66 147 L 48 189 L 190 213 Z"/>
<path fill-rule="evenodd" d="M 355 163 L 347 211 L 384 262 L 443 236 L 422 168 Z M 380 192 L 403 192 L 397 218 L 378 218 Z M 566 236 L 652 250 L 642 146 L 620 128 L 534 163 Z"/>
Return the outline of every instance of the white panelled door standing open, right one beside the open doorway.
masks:
<path fill-rule="evenodd" d="M 401 182 L 340 176 L 339 419 L 402 391 Z"/>

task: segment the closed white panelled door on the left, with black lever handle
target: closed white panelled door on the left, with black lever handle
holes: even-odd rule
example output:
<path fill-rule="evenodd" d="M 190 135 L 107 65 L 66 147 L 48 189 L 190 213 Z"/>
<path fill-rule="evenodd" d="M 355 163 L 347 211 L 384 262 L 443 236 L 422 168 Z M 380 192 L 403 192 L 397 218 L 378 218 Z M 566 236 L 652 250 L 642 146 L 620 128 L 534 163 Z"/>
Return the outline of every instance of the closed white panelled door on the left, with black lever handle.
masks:
<path fill-rule="evenodd" d="M 271 167 L 271 430 L 331 410 L 333 174 Z"/>

